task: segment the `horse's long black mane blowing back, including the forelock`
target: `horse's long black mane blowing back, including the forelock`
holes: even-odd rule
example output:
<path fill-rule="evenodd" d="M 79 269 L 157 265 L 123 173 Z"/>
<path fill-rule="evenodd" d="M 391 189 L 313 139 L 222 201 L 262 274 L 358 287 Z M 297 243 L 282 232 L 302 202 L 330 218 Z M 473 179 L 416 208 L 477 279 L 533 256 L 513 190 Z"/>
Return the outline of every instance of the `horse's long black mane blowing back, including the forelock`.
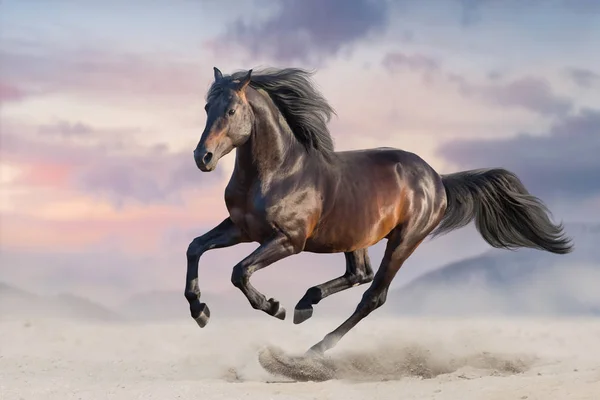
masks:
<path fill-rule="evenodd" d="M 221 82 L 241 79 L 247 71 L 234 72 L 213 84 L 211 93 L 220 89 Z M 253 70 L 250 86 L 264 90 L 277 106 L 296 139 L 308 150 L 325 155 L 333 153 L 333 139 L 327 123 L 335 114 L 325 97 L 310 80 L 312 72 L 299 68 L 265 68 Z"/>

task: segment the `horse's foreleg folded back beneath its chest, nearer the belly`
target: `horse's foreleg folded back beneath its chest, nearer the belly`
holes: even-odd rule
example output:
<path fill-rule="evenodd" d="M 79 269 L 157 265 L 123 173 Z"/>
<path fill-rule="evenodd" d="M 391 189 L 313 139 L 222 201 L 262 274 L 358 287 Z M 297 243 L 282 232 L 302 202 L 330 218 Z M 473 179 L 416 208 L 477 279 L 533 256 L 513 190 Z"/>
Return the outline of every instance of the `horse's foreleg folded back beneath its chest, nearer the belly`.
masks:
<path fill-rule="evenodd" d="M 281 235 L 260 245 L 252 254 L 240 261 L 231 274 L 231 283 L 244 293 L 252 308 L 262 310 L 279 319 L 285 319 L 285 309 L 273 298 L 267 298 L 250 284 L 252 274 L 268 267 L 299 250 L 294 247 L 287 236 Z"/>

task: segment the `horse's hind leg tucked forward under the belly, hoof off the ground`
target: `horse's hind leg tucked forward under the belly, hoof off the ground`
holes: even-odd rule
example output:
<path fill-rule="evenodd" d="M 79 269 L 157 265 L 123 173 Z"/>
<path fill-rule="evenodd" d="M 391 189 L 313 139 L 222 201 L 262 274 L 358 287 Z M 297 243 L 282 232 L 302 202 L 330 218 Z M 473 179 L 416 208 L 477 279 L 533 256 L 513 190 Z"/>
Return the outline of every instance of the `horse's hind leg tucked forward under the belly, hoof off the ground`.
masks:
<path fill-rule="evenodd" d="M 312 306 L 319 304 L 325 297 L 373 280 L 373 269 L 371 268 L 367 249 L 347 252 L 344 253 L 344 256 L 346 257 L 346 273 L 339 278 L 308 289 L 296 305 L 294 311 L 295 324 L 300 324 L 312 317 Z"/>

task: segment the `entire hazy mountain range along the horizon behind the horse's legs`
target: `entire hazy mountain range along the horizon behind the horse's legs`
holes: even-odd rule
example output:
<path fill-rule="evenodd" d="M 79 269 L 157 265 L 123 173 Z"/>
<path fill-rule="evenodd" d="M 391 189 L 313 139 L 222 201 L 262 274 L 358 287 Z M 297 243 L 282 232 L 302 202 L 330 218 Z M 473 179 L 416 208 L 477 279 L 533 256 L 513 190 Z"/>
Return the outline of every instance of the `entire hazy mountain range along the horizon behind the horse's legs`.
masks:
<path fill-rule="evenodd" d="M 600 316 L 600 225 L 569 224 L 566 230 L 574 238 L 572 254 L 492 249 L 480 256 L 448 264 L 404 287 L 391 290 L 382 311 L 437 315 Z M 356 299 L 343 299 L 343 294 L 328 298 L 316 307 L 317 314 L 320 317 L 346 315 L 349 308 L 354 308 Z M 235 288 L 225 293 L 203 292 L 202 300 L 209 304 L 214 318 L 256 315 Z M 280 300 L 288 312 L 293 312 L 297 299 Z M 0 318 L 7 317 L 171 320 L 189 318 L 189 312 L 181 291 L 138 293 L 120 304 L 115 312 L 79 296 L 45 296 L 0 282 Z"/>

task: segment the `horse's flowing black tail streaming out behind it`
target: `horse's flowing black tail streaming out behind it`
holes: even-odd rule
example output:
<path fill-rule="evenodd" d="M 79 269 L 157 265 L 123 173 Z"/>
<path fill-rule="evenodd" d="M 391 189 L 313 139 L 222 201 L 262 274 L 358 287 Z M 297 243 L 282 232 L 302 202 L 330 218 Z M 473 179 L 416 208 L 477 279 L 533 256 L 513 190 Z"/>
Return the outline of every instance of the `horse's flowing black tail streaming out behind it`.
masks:
<path fill-rule="evenodd" d="M 548 208 L 512 172 L 500 168 L 462 171 L 442 175 L 442 182 L 448 203 L 433 236 L 475 220 L 477 230 L 493 247 L 530 247 L 557 254 L 573 250 L 562 223 L 550 221 Z"/>

